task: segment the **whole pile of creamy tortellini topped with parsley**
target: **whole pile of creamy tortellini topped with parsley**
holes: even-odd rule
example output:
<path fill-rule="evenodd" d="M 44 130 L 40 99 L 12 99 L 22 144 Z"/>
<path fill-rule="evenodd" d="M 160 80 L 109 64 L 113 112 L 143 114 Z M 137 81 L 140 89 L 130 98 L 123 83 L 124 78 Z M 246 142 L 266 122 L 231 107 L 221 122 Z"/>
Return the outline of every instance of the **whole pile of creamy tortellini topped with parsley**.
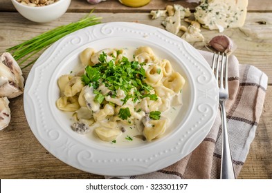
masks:
<path fill-rule="evenodd" d="M 122 72 L 120 68 L 128 58 L 135 71 L 132 67 L 125 68 L 123 72 L 127 74 L 111 80 L 108 74 Z M 185 84 L 169 60 L 158 58 L 152 48 L 142 46 L 134 52 L 127 48 L 105 48 L 98 52 L 86 48 L 80 53 L 80 63 L 84 73 L 64 74 L 57 80 L 60 98 L 56 105 L 64 112 L 73 112 L 72 130 L 79 134 L 91 133 L 111 143 L 153 141 L 163 136 L 170 124 L 167 112 L 182 104 L 181 90 Z M 101 68 L 96 69 L 103 64 L 103 68 L 114 71 L 101 74 Z M 123 79 L 135 72 L 136 77 L 123 85 Z M 111 84 L 114 81 L 117 84 Z"/>

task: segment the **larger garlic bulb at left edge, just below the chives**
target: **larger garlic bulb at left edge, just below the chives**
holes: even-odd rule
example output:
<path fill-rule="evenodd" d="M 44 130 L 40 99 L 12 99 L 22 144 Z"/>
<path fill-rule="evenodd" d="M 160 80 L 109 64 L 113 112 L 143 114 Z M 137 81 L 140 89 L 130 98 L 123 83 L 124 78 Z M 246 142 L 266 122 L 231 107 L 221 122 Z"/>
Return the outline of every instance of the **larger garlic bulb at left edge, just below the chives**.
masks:
<path fill-rule="evenodd" d="M 15 98 L 24 92 L 24 77 L 17 61 L 8 52 L 0 57 L 0 97 Z"/>

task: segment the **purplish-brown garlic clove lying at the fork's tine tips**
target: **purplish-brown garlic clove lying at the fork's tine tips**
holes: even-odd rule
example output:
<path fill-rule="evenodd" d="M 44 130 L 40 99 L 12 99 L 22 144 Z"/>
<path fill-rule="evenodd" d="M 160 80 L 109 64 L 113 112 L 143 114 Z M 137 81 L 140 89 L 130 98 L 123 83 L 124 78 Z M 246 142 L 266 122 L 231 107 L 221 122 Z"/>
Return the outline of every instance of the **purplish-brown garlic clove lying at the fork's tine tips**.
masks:
<path fill-rule="evenodd" d="M 213 37 L 208 43 L 208 46 L 212 47 L 218 52 L 224 52 L 226 54 L 230 54 L 236 49 L 236 45 L 233 43 L 233 40 L 226 35 L 218 35 Z"/>

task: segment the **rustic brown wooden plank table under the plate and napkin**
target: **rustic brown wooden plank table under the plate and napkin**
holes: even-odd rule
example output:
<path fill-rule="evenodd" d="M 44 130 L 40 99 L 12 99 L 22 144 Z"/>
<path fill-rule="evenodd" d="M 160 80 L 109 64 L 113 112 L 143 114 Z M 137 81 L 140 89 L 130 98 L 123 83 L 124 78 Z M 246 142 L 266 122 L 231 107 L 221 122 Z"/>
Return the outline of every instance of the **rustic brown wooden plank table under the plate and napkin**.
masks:
<path fill-rule="evenodd" d="M 142 8 L 128 8 L 118 1 L 109 0 L 93 6 L 85 0 L 72 0 L 69 10 L 60 19 L 50 23 L 33 23 L 21 17 L 11 1 L 0 1 L 0 53 L 19 40 L 27 40 L 57 26 L 78 21 L 95 8 L 93 14 L 102 22 L 137 21 L 150 26 L 161 26 L 161 19 L 152 20 L 150 10 L 164 9 L 170 1 L 152 0 Z M 175 1 L 194 10 L 196 3 Z M 265 21 L 266 24 L 261 24 Z M 206 39 L 218 34 L 216 30 L 203 30 Z M 272 2 L 249 0 L 248 14 L 243 29 L 224 32 L 234 39 L 238 48 L 235 55 L 240 63 L 252 64 L 265 72 L 269 85 L 262 118 L 239 179 L 272 179 Z M 205 42 L 192 43 L 203 49 Z M 23 71 L 25 79 L 30 68 Z M 12 120 L 0 132 L 1 179 L 104 179 L 104 176 L 82 172 L 58 160 L 46 151 L 31 132 L 24 114 L 23 95 L 10 100 Z"/>

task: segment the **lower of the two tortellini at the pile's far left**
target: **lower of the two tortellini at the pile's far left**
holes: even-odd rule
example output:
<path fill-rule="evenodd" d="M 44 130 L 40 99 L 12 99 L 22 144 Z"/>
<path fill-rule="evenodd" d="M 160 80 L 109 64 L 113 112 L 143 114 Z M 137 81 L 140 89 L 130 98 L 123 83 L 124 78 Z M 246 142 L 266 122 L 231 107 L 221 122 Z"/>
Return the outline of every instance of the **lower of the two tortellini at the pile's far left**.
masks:
<path fill-rule="evenodd" d="M 57 108 L 67 112 L 75 112 L 80 109 L 78 96 L 62 96 L 57 99 Z"/>

